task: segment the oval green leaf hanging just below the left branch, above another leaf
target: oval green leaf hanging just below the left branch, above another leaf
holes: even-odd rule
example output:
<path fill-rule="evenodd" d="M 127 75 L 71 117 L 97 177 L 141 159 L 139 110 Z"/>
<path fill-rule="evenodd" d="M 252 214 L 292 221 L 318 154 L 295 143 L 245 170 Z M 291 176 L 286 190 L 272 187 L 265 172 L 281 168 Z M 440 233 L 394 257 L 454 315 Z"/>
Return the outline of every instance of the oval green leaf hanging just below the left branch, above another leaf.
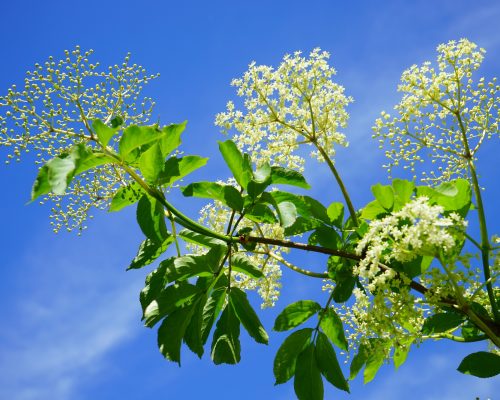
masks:
<path fill-rule="evenodd" d="M 137 223 L 144 235 L 157 244 L 163 243 L 170 236 L 163 206 L 148 195 L 143 195 L 137 204 Z"/>

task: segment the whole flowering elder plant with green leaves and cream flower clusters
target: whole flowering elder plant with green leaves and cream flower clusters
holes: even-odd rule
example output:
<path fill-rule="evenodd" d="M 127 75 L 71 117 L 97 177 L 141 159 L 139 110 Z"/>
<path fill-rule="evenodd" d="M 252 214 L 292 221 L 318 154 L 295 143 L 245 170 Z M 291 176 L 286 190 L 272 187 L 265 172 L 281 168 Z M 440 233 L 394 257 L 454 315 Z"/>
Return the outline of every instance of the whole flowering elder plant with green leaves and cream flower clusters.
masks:
<path fill-rule="evenodd" d="M 56 231 L 82 229 L 94 206 L 136 207 L 145 238 L 129 269 L 159 260 L 140 302 L 170 361 L 180 364 L 185 343 L 199 357 L 208 348 L 215 364 L 236 364 L 241 327 L 267 344 L 247 294 L 257 291 L 262 308 L 275 306 L 290 270 L 322 279 L 325 291 L 322 304 L 281 306 L 273 327 L 292 331 L 274 360 L 276 384 L 293 378 L 299 399 L 322 399 L 324 381 L 349 391 L 361 370 L 369 382 L 384 362 L 397 368 L 430 339 L 484 341 L 458 370 L 488 378 L 500 373 L 500 246 L 476 162 L 480 147 L 498 138 L 500 87 L 475 77 L 484 50 L 474 43 L 451 41 L 437 52 L 436 64 L 403 73 L 395 116 L 382 113 L 374 127 L 389 172 L 403 165 L 413 179 L 375 184 L 361 208 L 335 163 L 337 147 L 348 144 L 342 130 L 353 100 L 319 49 L 287 55 L 277 68 L 252 63 L 233 81 L 241 101 L 215 119 L 233 135 L 219 142 L 232 176 L 180 187 L 209 200 L 199 217 L 184 214 L 169 193 L 207 158 L 179 152 L 185 123 L 148 124 L 152 102 L 140 91 L 153 76 L 128 56 L 101 70 L 77 48 L 37 65 L 23 89 L 0 97 L 0 144 L 11 150 L 8 160 L 36 153 L 31 197 L 53 201 Z M 326 164 L 342 198 L 324 205 L 289 191 L 310 187 L 303 146 Z M 326 265 L 295 265 L 292 250 L 327 255 Z"/>

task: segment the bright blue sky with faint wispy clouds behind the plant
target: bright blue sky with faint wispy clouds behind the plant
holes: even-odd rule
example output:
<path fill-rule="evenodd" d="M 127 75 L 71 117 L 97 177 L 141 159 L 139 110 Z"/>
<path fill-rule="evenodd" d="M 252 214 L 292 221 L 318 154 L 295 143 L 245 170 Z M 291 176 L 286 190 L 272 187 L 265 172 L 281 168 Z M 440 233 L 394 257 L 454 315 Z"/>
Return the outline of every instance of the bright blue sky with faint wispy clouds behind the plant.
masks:
<path fill-rule="evenodd" d="M 337 81 L 355 99 L 346 129 L 351 145 L 339 151 L 337 165 L 360 207 L 369 200 L 370 185 L 385 180 L 370 128 L 381 110 L 398 101 L 401 72 L 434 59 L 439 43 L 467 37 L 487 50 L 481 73 L 499 75 L 499 20 L 500 3 L 494 1 L 3 2 L 0 91 L 22 83 L 35 62 L 77 44 L 94 49 L 103 65 L 130 51 L 134 62 L 161 73 L 147 90 L 157 101 L 155 116 L 163 123 L 189 120 L 185 151 L 211 158 L 196 178 L 225 178 L 216 144 L 222 136 L 213 119 L 234 98 L 231 79 L 252 60 L 276 65 L 285 53 L 319 46 L 332 53 Z M 492 233 L 499 221 L 492 186 L 497 151 L 498 144 L 485 151 L 481 163 L 491 188 L 486 207 Z M 324 170 L 311 164 L 309 171 L 313 196 L 325 202 L 338 196 Z M 146 271 L 125 273 L 142 240 L 133 211 L 96 215 L 80 238 L 53 235 L 49 208 L 25 206 L 35 175 L 28 163 L 0 169 L 0 398 L 292 398 L 291 384 L 273 386 L 272 359 L 283 335 L 271 335 L 269 347 L 244 335 L 237 367 L 215 367 L 187 350 L 182 368 L 166 362 L 155 331 L 140 322 L 138 293 Z M 182 202 L 193 216 L 198 206 Z M 302 262 L 321 269 L 321 259 L 304 256 Z M 286 301 L 317 296 L 319 289 L 288 274 L 285 283 L 277 309 L 262 314 L 268 330 Z M 397 373 L 385 366 L 375 382 L 355 381 L 351 398 L 493 399 L 499 379 L 455 372 L 477 348 L 427 343 Z M 325 398 L 346 397 L 328 389 Z"/>

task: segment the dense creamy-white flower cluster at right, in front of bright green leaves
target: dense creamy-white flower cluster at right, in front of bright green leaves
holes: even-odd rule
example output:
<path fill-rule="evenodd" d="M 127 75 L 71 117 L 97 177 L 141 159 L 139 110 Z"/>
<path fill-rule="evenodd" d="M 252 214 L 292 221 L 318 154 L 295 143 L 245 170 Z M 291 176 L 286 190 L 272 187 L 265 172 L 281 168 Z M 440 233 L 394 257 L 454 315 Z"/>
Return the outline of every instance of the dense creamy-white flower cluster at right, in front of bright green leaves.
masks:
<path fill-rule="evenodd" d="M 455 256 L 457 244 L 467 226 L 458 214 L 443 215 L 443 207 L 430 205 L 425 196 L 408 202 L 400 211 L 370 222 L 368 232 L 358 243 L 356 252 L 363 254 L 355 273 L 370 280 L 375 289 L 393 277 L 391 269 L 380 273 L 380 264 L 392 260 L 409 262 L 418 256 Z"/>

